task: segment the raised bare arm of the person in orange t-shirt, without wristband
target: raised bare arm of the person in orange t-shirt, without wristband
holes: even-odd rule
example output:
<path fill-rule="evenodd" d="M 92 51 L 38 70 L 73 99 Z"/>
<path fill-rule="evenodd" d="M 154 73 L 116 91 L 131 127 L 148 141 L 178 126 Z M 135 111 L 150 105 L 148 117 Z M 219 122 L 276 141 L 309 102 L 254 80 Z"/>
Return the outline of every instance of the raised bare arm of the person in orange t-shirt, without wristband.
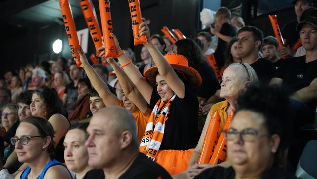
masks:
<path fill-rule="evenodd" d="M 131 102 L 133 102 L 139 110 L 144 114 L 147 110 L 147 104 L 136 86 L 132 83 L 128 75 L 123 71 L 121 67 L 113 60 L 113 58 L 107 58 L 107 62 L 114 69 L 116 76 L 121 84 L 123 92 Z"/>

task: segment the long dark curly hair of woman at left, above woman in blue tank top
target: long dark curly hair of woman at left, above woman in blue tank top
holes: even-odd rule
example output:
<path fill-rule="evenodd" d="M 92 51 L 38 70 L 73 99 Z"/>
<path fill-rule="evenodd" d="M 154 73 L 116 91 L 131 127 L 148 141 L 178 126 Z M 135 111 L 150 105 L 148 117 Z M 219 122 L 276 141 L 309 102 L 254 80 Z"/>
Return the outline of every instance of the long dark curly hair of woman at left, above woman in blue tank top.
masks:
<path fill-rule="evenodd" d="M 63 107 L 63 103 L 59 98 L 55 89 L 48 86 L 41 86 L 39 89 L 34 90 L 33 94 L 37 94 L 46 104 L 46 119 L 49 119 L 53 114 L 59 113 L 66 115 L 66 110 Z"/>

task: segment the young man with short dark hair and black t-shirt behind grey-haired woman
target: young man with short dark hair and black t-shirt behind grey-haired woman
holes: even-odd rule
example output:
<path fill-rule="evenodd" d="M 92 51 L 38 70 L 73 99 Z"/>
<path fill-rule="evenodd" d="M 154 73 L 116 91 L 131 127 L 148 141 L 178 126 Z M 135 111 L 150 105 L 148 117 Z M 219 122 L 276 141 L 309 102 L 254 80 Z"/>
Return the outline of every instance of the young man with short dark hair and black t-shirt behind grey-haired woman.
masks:
<path fill-rule="evenodd" d="M 269 83 L 276 68 L 271 61 L 260 58 L 259 50 L 263 44 L 263 33 L 253 26 L 242 27 L 238 32 L 238 55 L 242 62 L 248 63 L 256 71 L 262 83 Z"/>

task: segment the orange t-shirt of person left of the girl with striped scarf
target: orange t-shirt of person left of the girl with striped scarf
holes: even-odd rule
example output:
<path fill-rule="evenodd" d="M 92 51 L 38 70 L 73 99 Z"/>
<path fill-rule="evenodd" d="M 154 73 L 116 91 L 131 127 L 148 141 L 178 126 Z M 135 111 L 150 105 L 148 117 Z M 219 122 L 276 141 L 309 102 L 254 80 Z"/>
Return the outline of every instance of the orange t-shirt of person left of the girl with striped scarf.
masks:
<path fill-rule="evenodd" d="M 119 101 L 118 106 L 121 106 L 124 108 L 123 102 Z M 140 110 L 138 112 L 131 112 L 134 119 L 136 120 L 137 136 L 138 136 L 139 144 L 141 143 L 141 140 L 143 138 L 143 134 L 145 132 L 147 121 L 150 118 L 151 112 L 152 110 L 150 108 L 147 108 L 144 114 Z"/>

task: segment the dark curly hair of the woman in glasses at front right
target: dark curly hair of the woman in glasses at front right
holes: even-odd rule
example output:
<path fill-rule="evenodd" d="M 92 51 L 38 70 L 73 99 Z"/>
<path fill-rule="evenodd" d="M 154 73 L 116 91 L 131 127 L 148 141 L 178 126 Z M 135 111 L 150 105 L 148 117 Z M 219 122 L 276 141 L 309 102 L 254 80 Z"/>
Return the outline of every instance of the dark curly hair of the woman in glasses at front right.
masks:
<path fill-rule="evenodd" d="M 290 142 L 292 116 L 290 115 L 291 105 L 288 94 L 288 91 L 277 85 L 254 84 L 249 86 L 246 92 L 237 99 L 236 113 L 248 110 L 262 114 L 269 135 L 280 136 L 279 152 L 276 153 L 276 158 Z"/>

